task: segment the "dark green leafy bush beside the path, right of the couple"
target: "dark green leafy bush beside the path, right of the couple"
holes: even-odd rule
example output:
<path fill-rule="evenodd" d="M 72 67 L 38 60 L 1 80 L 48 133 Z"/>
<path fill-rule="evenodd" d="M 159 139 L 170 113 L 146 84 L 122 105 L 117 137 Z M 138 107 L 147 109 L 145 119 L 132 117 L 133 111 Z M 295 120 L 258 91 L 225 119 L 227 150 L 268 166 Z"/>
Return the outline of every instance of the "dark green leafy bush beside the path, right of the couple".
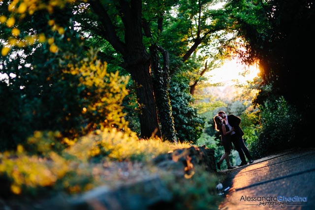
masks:
<path fill-rule="evenodd" d="M 255 156 L 299 146 L 296 133 L 302 116 L 283 97 L 260 106 L 258 139 L 250 142 Z"/>

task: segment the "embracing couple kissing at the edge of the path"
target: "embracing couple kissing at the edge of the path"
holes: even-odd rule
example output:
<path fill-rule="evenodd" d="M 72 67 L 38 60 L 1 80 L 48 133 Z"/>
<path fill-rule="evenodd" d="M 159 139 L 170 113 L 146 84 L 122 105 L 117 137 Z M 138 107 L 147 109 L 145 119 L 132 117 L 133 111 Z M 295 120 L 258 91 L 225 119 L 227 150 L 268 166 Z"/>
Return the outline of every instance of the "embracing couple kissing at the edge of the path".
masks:
<path fill-rule="evenodd" d="M 242 161 L 238 166 L 247 165 L 245 156 L 249 160 L 249 163 L 252 163 L 252 155 L 244 144 L 244 132 L 240 127 L 241 119 L 235 115 L 226 115 L 225 112 L 220 111 L 218 112 L 218 115 L 213 118 L 213 120 L 215 122 L 215 129 L 221 134 L 221 144 L 224 148 L 224 154 L 221 156 L 219 162 L 217 162 L 218 169 L 221 170 L 221 163 L 224 159 L 228 169 L 235 168 L 234 166 L 231 166 L 229 160 L 232 143 L 235 147 L 235 150 L 238 151 Z"/>

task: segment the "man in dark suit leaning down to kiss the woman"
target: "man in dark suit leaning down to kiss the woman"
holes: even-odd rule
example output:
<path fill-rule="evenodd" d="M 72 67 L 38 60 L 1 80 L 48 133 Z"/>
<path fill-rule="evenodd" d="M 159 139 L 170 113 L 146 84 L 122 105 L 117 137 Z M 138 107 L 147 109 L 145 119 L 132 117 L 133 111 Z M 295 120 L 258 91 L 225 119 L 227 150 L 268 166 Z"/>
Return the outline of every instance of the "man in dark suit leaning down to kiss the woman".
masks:
<path fill-rule="evenodd" d="M 225 112 L 223 111 L 218 112 L 218 115 L 225 121 L 225 124 L 230 129 L 234 127 L 235 132 L 231 133 L 231 141 L 235 149 L 238 151 L 238 154 L 240 155 L 240 158 L 242 161 L 241 164 L 238 166 L 247 165 L 245 155 L 247 159 L 249 160 L 249 163 L 252 163 L 253 162 L 252 155 L 250 154 L 250 151 L 247 149 L 246 145 L 244 144 L 244 140 L 243 140 L 244 132 L 242 128 L 240 127 L 241 119 L 239 117 L 236 117 L 235 115 L 226 115 Z"/>

